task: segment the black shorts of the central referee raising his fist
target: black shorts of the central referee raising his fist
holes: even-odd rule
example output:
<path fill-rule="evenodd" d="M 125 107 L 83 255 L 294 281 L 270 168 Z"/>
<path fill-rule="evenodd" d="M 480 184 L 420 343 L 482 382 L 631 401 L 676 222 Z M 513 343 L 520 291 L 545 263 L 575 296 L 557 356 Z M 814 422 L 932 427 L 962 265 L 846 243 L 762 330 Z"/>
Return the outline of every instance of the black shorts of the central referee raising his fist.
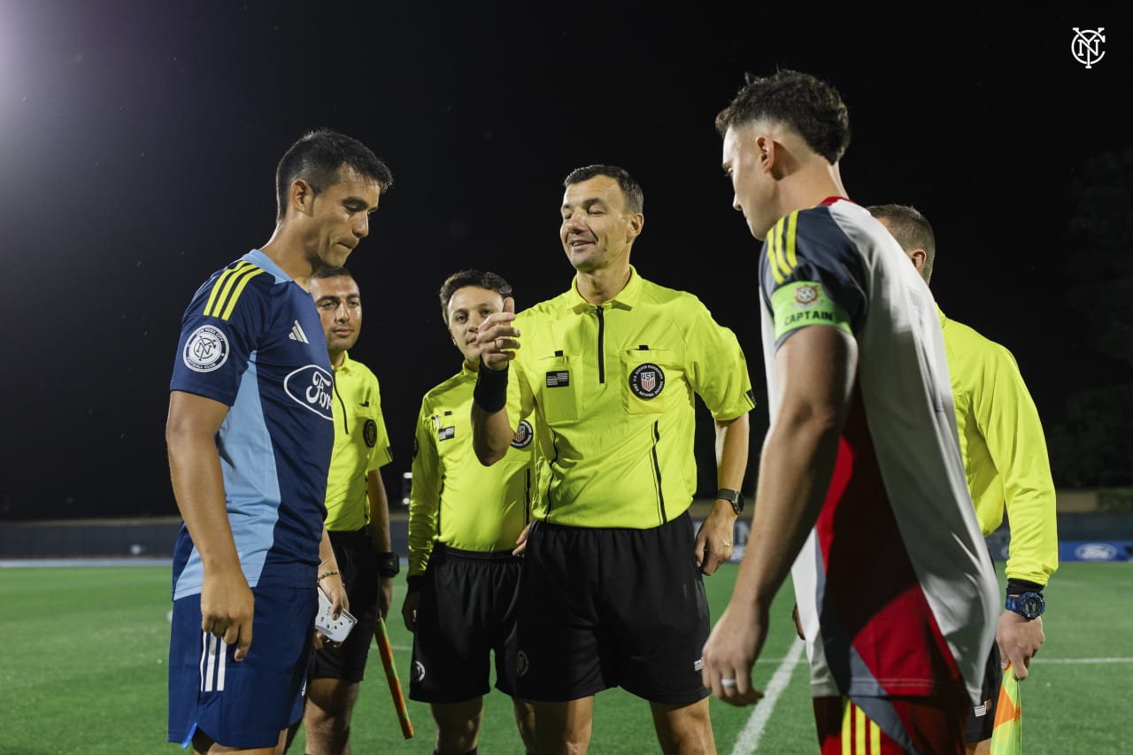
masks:
<path fill-rule="evenodd" d="M 570 701 L 608 687 L 655 703 L 708 695 L 710 628 L 688 511 L 651 529 L 536 520 L 519 583 L 519 696 Z"/>

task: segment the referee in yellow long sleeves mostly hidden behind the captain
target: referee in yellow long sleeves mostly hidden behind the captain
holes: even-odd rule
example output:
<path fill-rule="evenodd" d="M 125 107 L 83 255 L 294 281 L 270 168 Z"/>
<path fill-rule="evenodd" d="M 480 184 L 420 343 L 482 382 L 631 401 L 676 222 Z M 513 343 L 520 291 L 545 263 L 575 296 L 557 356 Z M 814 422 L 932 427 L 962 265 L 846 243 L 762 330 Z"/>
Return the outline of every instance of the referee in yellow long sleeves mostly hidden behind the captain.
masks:
<path fill-rule="evenodd" d="M 889 229 L 929 282 L 936 239 L 925 215 L 901 204 L 876 205 L 869 211 Z M 939 307 L 937 312 L 976 517 L 985 536 L 999 527 L 1005 510 L 1011 523 L 1004 611 L 983 681 L 983 703 L 973 711 L 966 730 L 969 750 L 986 753 L 1002 667 L 1010 661 L 1015 676 L 1025 679 L 1031 659 L 1046 638 L 1042 588 L 1058 568 L 1055 484 L 1039 412 L 1011 351 L 949 320 Z"/>

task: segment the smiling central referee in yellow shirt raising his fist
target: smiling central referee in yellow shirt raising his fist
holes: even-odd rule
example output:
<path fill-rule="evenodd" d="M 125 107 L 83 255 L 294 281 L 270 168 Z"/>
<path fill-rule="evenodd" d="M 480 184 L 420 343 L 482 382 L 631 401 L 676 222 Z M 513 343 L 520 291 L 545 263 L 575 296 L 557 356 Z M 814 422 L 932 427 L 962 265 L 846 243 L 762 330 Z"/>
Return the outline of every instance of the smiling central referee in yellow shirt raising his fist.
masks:
<path fill-rule="evenodd" d="M 664 752 L 713 753 L 701 574 L 731 557 L 743 506 L 747 364 L 699 299 L 630 265 L 645 217 L 625 170 L 580 168 L 564 186 L 573 286 L 519 315 L 508 300 L 477 337 L 477 456 L 503 458 L 534 412 L 550 461 L 523 553 L 518 690 L 539 753 L 585 752 L 594 695 L 614 686 L 649 701 Z M 721 489 L 698 533 L 693 393 L 716 419 Z"/>

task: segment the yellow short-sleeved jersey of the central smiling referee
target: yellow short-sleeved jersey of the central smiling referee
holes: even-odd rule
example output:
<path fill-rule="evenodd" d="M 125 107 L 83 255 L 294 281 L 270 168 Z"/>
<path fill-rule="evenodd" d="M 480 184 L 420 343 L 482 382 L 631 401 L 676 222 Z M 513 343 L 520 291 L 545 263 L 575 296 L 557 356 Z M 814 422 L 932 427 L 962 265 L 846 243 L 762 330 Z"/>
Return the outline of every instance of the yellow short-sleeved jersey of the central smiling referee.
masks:
<path fill-rule="evenodd" d="M 521 312 L 508 414 L 533 410 L 550 464 L 535 509 L 578 527 L 657 527 L 683 514 L 697 485 L 699 395 L 716 419 L 755 406 L 743 351 L 701 302 L 630 268 L 595 306 L 571 290 Z"/>

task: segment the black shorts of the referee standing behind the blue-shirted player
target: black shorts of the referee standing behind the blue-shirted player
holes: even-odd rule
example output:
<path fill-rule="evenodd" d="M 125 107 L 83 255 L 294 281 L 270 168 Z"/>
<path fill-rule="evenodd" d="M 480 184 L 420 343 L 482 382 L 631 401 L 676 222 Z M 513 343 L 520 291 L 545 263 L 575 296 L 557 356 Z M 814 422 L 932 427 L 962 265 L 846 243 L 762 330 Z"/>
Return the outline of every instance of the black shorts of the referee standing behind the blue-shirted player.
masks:
<path fill-rule="evenodd" d="M 332 647 L 326 643 L 322 650 L 310 654 L 308 677 L 361 681 L 377 625 L 377 551 L 367 527 L 353 532 L 331 532 L 330 536 L 334 559 L 339 562 L 339 572 L 347 587 L 350 613 L 358 619 L 358 623 L 341 646 Z"/>

